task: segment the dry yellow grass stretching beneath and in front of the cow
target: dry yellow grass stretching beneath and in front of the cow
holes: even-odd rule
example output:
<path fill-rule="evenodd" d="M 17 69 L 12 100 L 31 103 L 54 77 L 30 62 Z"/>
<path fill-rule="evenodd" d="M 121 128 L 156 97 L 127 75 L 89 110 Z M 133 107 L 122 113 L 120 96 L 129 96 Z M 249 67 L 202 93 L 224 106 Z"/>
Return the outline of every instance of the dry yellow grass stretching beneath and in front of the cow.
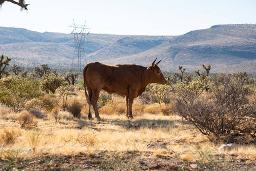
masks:
<path fill-rule="evenodd" d="M 97 121 L 87 120 L 86 101 L 80 96 L 78 99 L 84 105 L 80 119 L 72 117 L 67 111 L 60 111 L 59 121 L 56 123 L 55 118 L 46 113 L 48 117 L 38 119 L 38 125 L 33 129 L 19 128 L 17 113 L 0 115 L 1 132 L 4 128 L 15 128 L 19 132 L 12 144 L 0 145 L 0 157 L 8 157 L 10 151 L 18 153 L 21 158 L 42 153 L 75 156 L 92 155 L 96 151 L 136 151 L 141 153 L 141 157 L 147 157 L 143 152 L 153 152 L 155 156 L 169 156 L 172 152 L 184 161 L 209 162 L 210 155 L 218 154 L 217 149 L 221 144 L 210 141 L 215 137 L 188 129 L 188 125 L 179 116 L 163 115 L 161 108 L 168 108 L 168 105 L 144 105 L 135 101 L 135 119 L 128 120 L 125 117 L 125 99 L 115 97 L 111 103 L 100 108 L 101 120 Z M 159 142 L 166 144 L 170 151 L 146 148 L 147 143 Z M 238 150 L 227 152 L 233 153 L 238 158 L 256 160 L 254 145 L 239 146 Z"/>

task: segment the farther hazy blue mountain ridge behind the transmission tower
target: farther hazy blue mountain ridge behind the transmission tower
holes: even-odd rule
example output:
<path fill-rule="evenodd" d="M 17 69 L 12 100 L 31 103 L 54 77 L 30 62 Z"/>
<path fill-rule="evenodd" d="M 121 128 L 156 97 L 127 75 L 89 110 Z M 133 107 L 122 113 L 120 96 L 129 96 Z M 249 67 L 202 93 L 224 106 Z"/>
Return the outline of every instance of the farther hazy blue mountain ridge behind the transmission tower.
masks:
<path fill-rule="evenodd" d="M 70 67 L 74 55 L 73 34 L 0 27 L 0 38 L 0 54 L 9 56 L 15 64 Z M 137 54 L 170 39 L 172 36 L 89 34 L 87 62 Z"/>

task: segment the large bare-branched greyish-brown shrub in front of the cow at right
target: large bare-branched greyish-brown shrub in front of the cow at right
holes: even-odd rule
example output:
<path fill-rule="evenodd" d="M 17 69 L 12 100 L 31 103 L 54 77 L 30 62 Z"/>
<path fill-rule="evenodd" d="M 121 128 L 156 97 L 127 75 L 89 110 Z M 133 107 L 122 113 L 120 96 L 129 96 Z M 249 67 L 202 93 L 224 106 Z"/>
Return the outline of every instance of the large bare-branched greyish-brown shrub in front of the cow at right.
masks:
<path fill-rule="evenodd" d="M 247 98 L 245 79 L 218 75 L 205 93 L 203 82 L 178 87 L 177 112 L 204 135 L 255 135 L 256 106 Z"/>

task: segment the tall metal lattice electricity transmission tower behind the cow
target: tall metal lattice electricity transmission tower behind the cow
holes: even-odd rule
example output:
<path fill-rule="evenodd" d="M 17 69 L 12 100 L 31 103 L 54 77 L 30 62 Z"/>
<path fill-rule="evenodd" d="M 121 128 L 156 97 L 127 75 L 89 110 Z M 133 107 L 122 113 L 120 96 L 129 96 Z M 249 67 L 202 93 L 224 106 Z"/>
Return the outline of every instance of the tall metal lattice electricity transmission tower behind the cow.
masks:
<path fill-rule="evenodd" d="M 84 25 L 76 25 L 75 21 L 72 25 L 68 26 L 72 28 L 71 34 L 74 35 L 75 51 L 72 58 L 70 72 L 82 75 L 82 65 L 86 66 L 86 52 L 84 51 L 84 45 L 86 43 L 86 36 L 89 34 L 86 29 L 86 22 Z"/>

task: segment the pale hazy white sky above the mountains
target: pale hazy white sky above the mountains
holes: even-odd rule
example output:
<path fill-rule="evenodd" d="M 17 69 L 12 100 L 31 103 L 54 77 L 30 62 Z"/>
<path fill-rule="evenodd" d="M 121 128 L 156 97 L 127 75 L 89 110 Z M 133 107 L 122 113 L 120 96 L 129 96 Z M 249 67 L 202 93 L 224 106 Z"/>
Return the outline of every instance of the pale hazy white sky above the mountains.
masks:
<path fill-rule="evenodd" d="M 27 0 L 28 11 L 5 2 L 0 26 L 69 33 L 73 19 L 90 32 L 181 35 L 213 25 L 256 23 L 255 0 Z"/>

